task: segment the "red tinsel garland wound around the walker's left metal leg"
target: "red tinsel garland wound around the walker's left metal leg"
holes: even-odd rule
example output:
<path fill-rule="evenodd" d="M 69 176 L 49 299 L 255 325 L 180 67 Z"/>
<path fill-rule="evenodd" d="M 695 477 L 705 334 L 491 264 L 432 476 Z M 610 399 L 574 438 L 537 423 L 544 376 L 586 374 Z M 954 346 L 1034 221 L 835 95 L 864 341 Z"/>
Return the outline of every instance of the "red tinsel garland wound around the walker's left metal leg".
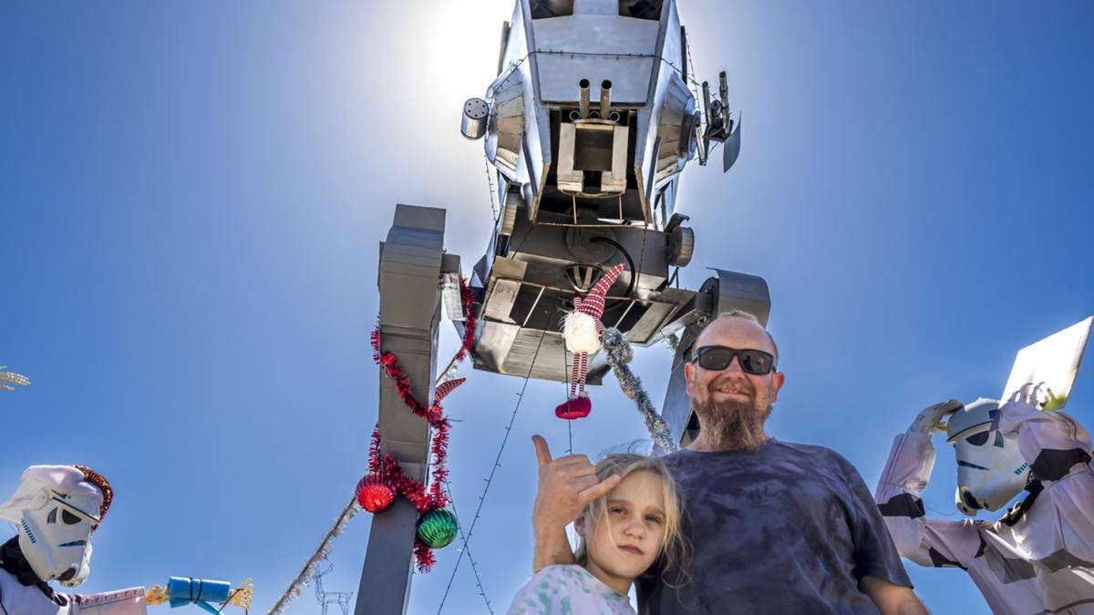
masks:
<path fill-rule="evenodd" d="M 456 351 L 456 355 L 452 360 L 453 363 L 463 361 L 467 356 L 468 350 L 470 350 L 472 345 L 475 343 L 475 295 L 465 279 L 459 280 L 459 297 L 463 301 L 464 308 L 464 337 L 461 340 L 459 350 Z M 393 352 L 380 352 L 379 327 L 372 332 L 372 348 L 374 350 L 373 359 L 380 363 L 384 373 L 386 373 L 387 376 L 395 382 L 395 391 L 399 398 L 403 399 L 403 403 L 406 404 L 410 411 L 424 418 L 429 421 L 429 425 L 433 427 L 433 439 L 430 445 L 430 452 L 433 456 L 432 481 L 429 492 L 427 492 L 426 487 L 421 483 L 418 483 L 403 472 L 403 468 L 399 467 L 398 460 L 396 460 L 393 455 L 384 455 L 383 462 L 381 463 L 381 433 L 379 426 L 372 432 L 372 443 L 369 448 L 369 469 L 371 472 L 380 472 L 387 477 L 392 485 L 395 486 L 396 491 L 409 500 L 410 503 L 415 506 L 415 509 L 418 510 L 419 514 L 431 508 L 446 507 L 449 504 L 449 498 L 445 496 L 441 486 L 447 480 L 449 477 L 449 468 L 445 466 L 445 461 L 449 456 L 449 429 L 451 425 L 449 423 L 449 419 L 444 417 L 443 409 L 441 408 L 441 401 L 444 399 L 444 397 L 456 386 L 463 384 L 466 379 L 453 379 L 439 384 L 433 390 L 433 403 L 427 407 L 415 398 L 410 379 L 406 375 L 406 372 L 403 371 L 403 365 L 399 364 L 398 358 L 396 358 Z M 430 567 L 432 567 L 435 562 L 433 549 L 430 548 L 429 545 L 426 545 L 421 541 L 415 538 L 414 552 L 418 561 L 418 570 L 421 572 L 428 572 Z"/>

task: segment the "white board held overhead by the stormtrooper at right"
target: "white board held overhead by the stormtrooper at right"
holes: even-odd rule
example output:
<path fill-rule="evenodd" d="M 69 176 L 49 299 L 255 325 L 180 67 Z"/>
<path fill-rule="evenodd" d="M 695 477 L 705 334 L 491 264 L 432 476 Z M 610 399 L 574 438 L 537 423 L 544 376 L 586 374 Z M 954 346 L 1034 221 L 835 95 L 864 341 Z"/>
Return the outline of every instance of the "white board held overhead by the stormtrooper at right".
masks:
<path fill-rule="evenodd" d="M 1062 408 L 1068 403 L 1071 385 L 1079 374 L 1092 322 L 1094 316 L 1019 350 L 1000 401 L 1005 403 L 1023 385 L 1034 384 L 1040 385 L 1037 388 L 1038 406 L 1044 407 L 1051 398 L 1049 409 Z"/>

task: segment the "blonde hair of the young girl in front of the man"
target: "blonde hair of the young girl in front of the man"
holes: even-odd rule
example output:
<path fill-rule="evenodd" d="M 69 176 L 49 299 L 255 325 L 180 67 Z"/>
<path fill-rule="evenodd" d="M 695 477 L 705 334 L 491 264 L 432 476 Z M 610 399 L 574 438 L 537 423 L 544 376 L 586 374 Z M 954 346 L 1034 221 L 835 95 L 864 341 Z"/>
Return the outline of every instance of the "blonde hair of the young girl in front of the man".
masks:
<path fill-rule="evenodd" d="M 596 479 L 603 481 L 613 474 L 618 474 L 620 478 L 636 472 L 649 472 L 661 478 L 662 497 L 665 502 L 665 522 L 662 525 L 661 550 L 657 560 L 662 561 L 662 575 L 677 568 L 677 573 L 682 572 L 683 560 L 687 557 L 688 546 L 680 532 L 683 515 L 683 503 L 676 481 L 673 480 L 668 468 L 655 457 L 638 455 L 635 453 L 615 453 L 605 456 L 596 463 Z M 581 512 L 584 519 L 585 533 L 590 536 L 595 532 L 596 526 L 604 520 L 604 512 L 607 510 L 608 495 L 589 502 L 585 510 Z M 584 566 L 589 561 L 589 541 L 584 536 L 578 542 L 577 553 L 578 564 Z M 655 560 L 655 561 L 657 561 Z"/>

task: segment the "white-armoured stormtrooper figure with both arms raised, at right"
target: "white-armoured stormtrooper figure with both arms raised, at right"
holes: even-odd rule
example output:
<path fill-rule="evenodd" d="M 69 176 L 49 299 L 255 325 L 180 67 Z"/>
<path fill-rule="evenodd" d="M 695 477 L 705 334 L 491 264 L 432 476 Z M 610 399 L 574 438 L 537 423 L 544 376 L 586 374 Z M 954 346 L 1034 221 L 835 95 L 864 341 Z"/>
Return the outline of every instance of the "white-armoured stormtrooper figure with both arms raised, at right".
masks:
<path fill-rule="evenodd" d="M 943 427 L 941 418 L 952 415 Z M 928 519 L 931 432 L 957 456 L 957 508 L 996 521 Z M 962 568 L 992 613 L 1094 613 L 1094 468 L 1090 434 L 1062 411 L 1012 401 L 936 404 L 896 437 L 875 499 L 903 557 Z"/>

